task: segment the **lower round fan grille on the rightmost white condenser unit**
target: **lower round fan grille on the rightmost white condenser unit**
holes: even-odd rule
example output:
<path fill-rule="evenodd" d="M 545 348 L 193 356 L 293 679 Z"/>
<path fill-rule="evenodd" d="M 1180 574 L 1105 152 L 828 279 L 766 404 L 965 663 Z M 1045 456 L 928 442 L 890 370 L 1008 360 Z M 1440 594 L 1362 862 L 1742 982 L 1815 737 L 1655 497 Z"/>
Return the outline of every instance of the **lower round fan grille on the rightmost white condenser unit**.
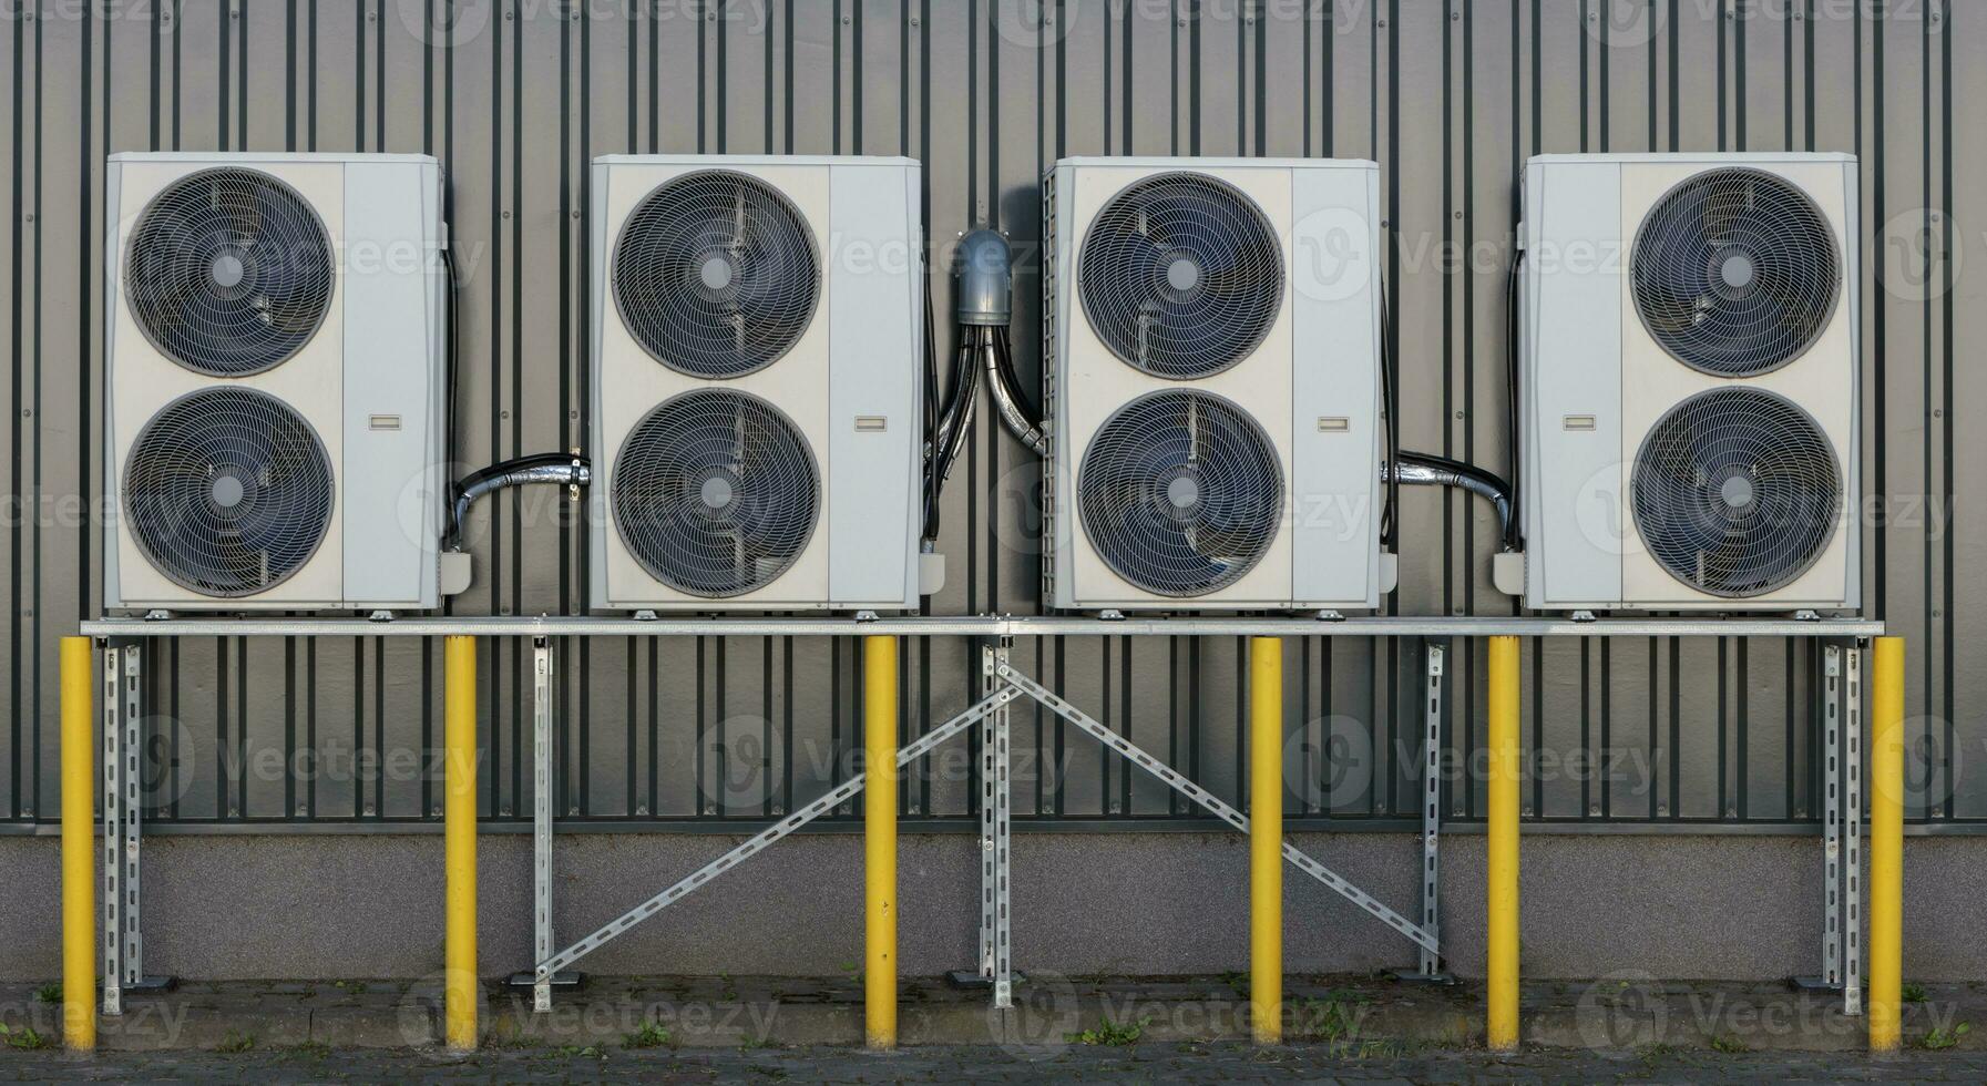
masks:
<path fill-rule="evenodd" d="M 1633 469 L 1635 528 L 1683 584 L 1762 596 L 1828 548 L 1842 480 L 1828 437 L 1784 397 L 1711 389 L 1669 409 Z"/>

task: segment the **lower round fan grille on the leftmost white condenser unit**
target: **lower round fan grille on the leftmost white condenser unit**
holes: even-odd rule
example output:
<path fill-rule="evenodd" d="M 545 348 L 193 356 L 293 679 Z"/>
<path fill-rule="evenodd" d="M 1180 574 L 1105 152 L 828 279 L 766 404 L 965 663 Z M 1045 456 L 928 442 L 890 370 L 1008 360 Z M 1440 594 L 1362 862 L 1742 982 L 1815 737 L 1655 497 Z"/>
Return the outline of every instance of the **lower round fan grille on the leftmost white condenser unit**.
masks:
<path fill-rule="evenodd" d="M 145 558 L 205 596 L 288 580 L 332 524 L 332 459 L 302 415 L 242 387 L 189 393 L 125 457 L 123 514 Z"/>

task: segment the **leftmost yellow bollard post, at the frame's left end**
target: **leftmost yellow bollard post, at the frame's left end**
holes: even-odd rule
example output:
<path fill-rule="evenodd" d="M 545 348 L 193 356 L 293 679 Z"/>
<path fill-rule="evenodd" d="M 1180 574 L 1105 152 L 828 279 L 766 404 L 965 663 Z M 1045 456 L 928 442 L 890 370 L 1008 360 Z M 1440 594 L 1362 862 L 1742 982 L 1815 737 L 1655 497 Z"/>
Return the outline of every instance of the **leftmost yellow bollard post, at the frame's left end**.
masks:
<path fill-rule="evenodd" d="M 97 1046 L 95 641 L 62 639 L 62 1044 Z"/>

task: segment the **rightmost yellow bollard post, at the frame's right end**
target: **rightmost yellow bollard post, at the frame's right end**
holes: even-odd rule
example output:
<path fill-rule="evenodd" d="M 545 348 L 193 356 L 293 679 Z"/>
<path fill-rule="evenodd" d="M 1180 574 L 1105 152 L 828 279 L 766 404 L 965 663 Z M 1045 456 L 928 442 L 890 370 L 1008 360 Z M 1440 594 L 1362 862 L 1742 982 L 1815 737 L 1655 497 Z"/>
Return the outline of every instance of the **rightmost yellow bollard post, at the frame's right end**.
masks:
<path fill-rule="evenodd" d="M 1904 637 L 1878 637 L 1870 711 L 1870 1050 L 1904 1040 Z"/>

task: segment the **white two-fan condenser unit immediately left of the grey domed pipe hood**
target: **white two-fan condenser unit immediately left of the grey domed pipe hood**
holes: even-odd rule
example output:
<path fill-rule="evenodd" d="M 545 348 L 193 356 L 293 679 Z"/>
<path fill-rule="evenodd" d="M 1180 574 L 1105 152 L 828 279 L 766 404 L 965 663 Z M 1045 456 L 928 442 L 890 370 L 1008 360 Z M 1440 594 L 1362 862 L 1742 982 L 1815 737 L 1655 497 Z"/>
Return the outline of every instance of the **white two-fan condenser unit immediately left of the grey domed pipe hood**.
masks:
<path fill-rule="evenodd" d="M 594 159 L 596 610 L 918 606 L 920 185 L 900 157 Z"/>

